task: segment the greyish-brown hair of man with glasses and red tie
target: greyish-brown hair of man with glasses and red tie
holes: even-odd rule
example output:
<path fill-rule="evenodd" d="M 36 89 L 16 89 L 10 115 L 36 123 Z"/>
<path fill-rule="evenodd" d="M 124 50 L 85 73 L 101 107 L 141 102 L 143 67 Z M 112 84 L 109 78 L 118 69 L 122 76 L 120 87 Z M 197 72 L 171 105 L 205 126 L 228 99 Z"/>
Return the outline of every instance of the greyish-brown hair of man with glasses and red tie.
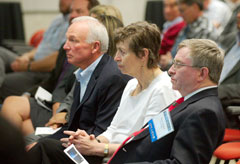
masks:
<path fill-rule="evenodd" d="M 209 39 L 188 39 L 181 42 L 180 48 L 190 49 L 190 57 L 195 67 L 207 67 L 209 78 L 212 82 L 218 83 L 223 67 L 224 52 L 218 45 Z"/>

